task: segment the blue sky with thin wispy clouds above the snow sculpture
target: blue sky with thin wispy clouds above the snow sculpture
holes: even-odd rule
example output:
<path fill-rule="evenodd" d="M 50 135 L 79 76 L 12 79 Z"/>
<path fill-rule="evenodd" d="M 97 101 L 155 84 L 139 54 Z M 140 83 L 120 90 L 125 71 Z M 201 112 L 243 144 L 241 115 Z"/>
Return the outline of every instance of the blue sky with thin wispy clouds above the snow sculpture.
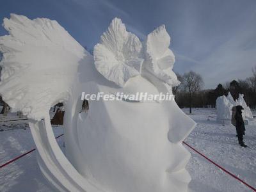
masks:
<path fill-rule="evenodd" d="M 88 49 L 114 17 L 141 40 L 165 24 L 175 72 L 200 73 L 205 88 L 252 76 L 256 65 L 255 0 L 0 0 L 0 19 L 10 13 L 55 19 Z"/>

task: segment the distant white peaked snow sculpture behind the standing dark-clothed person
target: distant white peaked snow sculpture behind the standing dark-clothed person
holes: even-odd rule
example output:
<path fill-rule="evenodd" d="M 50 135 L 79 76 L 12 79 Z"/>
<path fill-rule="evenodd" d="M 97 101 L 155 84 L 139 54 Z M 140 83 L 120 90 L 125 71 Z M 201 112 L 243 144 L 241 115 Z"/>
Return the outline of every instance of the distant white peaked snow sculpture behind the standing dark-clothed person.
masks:
<path fill-rule="evenodd" d="M 220 122 L 227 121 L 230 123 L 230 120 L 232 117 L 232 108 L 238 105 L 243 106 L 244 108 L 242 113 L 243 118 L 252 120 L 253 119 L 252 111 L 244 101 L 244 95 L 239 94 L 239 98 L 235 101 L 232 95 L 230 94 L 230 92 L 228 92 L 227 97 L 223 95 L 221 97 L 218 97 L 216 100 L 217 120 Z"/>

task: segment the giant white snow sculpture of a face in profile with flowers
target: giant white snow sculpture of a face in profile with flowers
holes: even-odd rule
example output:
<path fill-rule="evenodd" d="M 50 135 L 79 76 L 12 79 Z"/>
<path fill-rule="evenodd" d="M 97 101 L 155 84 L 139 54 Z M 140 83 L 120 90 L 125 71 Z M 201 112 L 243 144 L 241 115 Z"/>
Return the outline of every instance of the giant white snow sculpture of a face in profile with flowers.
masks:
<path fill-rule="evenodd" d="M 141 54 L 140 41 L 126 32 L 119 19 L 111 22 L 95 46 L 94 63 L 55 20 L 30 20 L 12 14 L 3 26 L 10 35 L 0 37 L 0 93 L 12 110 L 28 116 L 38 164 L 54 188 L 89 192 L 188 190 L 190 176 L 185 166 L 190 154 L 181 142 L 195 122 L 174 100 L 89 100 L 88 113 L 79 113 L 82 92 L 172 93 L 170 85 L 176 80 L 174 73 L 167 72 L 174 63 L 168 39 L 163 36 L 164 49 L 152 54 L 156 58 L 150 69 L 141 67 L 150 64 L 148 56 Z M 148 38 L 151 50 L 161 43 L 161 34 Z M 159 69 L 154 70 L 156 65 Z M 49 118 L 49 109 L 58 102 L 65 104 L 65 155 Z"/>

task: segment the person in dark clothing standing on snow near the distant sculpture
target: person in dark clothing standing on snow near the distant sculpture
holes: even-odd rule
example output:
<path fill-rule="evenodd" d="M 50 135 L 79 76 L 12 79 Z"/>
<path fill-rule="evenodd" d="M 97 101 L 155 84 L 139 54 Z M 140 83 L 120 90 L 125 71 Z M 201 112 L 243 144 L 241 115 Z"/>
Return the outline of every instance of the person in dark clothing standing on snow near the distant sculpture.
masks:
<path fill-rule="evenodd" d="M 243 109 L 244 108 L 242 106 L 236 106 L 236 115 L 235 115 L 236 132 L 237 132 L 237 137 L 238 137 L 238 143 L 242 147 L 247 147 L 247 145 L 245 145 L 244 141 L 243 141 L 243 135 L 244 135 L 244 132 L 245 132 L 244 120 L 243 120 L 243 116 L 242 116 L 242 110 Z"/>

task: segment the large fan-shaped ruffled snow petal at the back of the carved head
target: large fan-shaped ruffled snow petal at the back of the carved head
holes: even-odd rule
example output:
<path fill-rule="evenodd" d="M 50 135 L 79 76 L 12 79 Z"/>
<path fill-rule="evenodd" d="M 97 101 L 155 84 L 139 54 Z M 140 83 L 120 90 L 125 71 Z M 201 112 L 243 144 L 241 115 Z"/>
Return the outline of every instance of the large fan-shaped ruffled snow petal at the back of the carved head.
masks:
<path fill-rule="evenodd" d="M 78 65 L 92 56 L 56 20 L 11 14 L 3 26 L 0 93 L 13 111 L 41 120 L 67 100 Z"/>

